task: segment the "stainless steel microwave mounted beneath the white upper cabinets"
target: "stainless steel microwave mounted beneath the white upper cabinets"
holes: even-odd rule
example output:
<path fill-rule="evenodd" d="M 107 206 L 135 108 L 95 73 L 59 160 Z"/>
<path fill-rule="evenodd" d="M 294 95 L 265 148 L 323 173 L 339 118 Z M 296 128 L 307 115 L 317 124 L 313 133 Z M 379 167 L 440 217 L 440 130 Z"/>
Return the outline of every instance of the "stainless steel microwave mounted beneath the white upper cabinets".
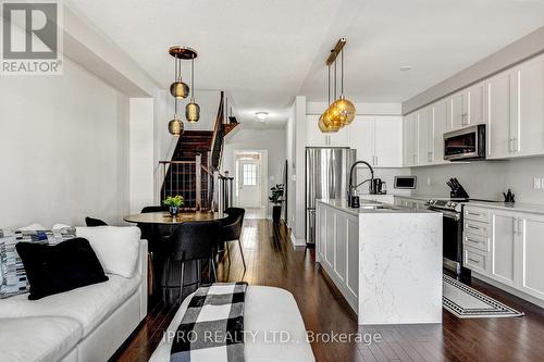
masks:
<path fill-rule="evenodd" d="M 485 125 L 479 124 L 445 133 L 444 160 L 485 160 Z"/>

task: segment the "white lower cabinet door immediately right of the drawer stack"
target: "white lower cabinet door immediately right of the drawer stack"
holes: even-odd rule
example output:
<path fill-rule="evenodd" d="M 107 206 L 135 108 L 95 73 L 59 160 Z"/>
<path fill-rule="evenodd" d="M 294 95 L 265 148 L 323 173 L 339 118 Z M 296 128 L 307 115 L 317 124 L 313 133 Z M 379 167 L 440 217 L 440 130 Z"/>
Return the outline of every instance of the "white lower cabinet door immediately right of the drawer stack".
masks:
<path fill-rule="evenodd" d="M 515 287 L 518 219 L 512 213 L 494 210 L 491 221 L 492 277 Z"/>

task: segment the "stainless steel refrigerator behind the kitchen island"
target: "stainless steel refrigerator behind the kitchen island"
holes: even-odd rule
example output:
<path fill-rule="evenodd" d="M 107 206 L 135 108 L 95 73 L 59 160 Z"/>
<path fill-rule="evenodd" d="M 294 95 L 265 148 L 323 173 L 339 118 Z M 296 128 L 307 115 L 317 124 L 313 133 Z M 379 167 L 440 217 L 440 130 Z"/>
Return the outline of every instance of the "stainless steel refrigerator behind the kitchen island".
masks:
<path fill-rule="evenodd" d="M 316 244 L 316 200 L 346 199 L 349 168 L 357 160 L 347 147 L 306 148 L 306 242 Z"/>

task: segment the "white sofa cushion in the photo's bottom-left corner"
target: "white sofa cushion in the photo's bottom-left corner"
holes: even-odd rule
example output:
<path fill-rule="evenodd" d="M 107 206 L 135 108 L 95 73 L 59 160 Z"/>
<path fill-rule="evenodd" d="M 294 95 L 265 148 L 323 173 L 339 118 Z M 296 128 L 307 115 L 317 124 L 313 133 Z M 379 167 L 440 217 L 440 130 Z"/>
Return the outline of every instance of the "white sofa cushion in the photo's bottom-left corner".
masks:
<path fill-rule="evenodd" d="M 0 319 L 0 360 L 60 361 L 82 334 L 77 321 L 61 316 Z"/>

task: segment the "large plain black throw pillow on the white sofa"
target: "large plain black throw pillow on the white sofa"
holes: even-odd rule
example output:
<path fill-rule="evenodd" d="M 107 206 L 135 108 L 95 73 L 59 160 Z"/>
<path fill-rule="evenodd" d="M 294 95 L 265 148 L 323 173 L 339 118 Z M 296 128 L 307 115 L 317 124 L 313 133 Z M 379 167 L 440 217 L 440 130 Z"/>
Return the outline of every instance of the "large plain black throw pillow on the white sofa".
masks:
<path fill-rule="evenodd" d="M 87 239 L 58 245 L 18 242 L 15 248 L 30 284 L 30 300 L 108 280 Z"/>

